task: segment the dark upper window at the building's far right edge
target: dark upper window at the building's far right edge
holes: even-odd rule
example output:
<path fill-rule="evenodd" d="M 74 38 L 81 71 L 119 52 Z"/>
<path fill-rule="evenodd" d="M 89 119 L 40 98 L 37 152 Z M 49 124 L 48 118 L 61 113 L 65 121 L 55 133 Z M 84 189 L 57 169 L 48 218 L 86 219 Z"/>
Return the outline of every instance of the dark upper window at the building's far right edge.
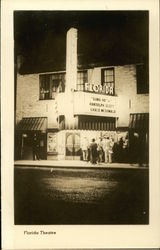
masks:
<path fill-rule="evenodd" d="M 136 65 L 137 94 L 149 93 L 148 66 L 144 64 Z"/>

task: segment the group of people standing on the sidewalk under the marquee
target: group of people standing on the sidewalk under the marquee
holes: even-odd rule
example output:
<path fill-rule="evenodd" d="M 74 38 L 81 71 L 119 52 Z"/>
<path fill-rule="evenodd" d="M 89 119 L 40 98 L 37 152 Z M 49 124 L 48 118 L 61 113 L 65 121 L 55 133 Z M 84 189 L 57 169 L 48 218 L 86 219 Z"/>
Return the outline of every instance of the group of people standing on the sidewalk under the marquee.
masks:
<path fill-rule="evenodd" d="M 127 139 L 120 138 L 115 142 L 113 138 L 100 138 L 98 142 L 92 139 L 89 144 L 85 138 L 82 144 L 82 154 L 84 161 L 90 161 L 92 164 L 106 162 L 123 162 L 127 157 Z"/>

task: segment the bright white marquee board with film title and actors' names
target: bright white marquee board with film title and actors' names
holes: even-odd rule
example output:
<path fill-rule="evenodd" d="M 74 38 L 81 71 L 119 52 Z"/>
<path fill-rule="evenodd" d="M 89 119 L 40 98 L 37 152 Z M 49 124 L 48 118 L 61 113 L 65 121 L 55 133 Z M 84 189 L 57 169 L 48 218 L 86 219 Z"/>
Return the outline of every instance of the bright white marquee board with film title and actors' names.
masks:
<path fill-rule="evenodd" d="M 116 117 L 116 97 L 75 92 L 74 114 Z"/>

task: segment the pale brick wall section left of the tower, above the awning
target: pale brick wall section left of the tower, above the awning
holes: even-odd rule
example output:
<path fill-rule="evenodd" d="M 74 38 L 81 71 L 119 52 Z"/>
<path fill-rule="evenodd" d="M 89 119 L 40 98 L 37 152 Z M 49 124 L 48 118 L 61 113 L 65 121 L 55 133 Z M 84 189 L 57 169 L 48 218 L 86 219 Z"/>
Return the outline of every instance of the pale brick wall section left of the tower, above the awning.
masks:
<path fill-rule="evenodd" d="M 55 127 L 55 100 L 39 100 L 39 74 L 17 76 L 16 122 L 22 117 L 48 117 L 48 127 Z"/>

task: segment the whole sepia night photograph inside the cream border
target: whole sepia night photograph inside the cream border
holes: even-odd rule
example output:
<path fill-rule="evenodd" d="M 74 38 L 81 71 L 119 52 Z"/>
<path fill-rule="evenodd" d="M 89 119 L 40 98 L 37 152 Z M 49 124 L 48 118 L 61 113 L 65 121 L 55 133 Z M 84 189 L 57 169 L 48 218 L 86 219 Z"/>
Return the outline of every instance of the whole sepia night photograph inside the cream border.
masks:
<path fill-rule="evenodd" d="M 15 11 L 16 225 L 149 223 L 149 12 Z"/>

